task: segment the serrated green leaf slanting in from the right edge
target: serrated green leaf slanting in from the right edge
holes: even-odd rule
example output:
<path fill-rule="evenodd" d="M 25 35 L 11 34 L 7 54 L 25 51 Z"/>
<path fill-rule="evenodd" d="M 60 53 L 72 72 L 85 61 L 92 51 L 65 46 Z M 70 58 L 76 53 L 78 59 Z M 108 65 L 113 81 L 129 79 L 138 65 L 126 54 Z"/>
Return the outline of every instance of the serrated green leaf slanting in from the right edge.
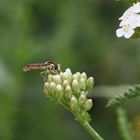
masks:
<path fill-rule="evenodd" d="M 140 96 L 140 85 L 135 85 L 128 89 L 128 91 L 117 95 L 115 98 L 110 99 L 107 103 L 107 107 L 112 105 L 121 105 L 131 99 L 134 99 L 136 97 Z"/>

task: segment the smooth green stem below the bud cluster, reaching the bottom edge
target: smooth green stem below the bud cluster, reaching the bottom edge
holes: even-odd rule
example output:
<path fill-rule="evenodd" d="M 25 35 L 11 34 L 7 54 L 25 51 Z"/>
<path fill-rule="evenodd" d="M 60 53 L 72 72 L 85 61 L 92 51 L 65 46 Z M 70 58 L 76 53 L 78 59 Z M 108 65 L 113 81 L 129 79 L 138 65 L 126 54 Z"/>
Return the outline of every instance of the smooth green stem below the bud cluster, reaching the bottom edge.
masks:
<path fill-rule="evenodd" d="M 103 138 L 90 126 L 88 122 L 80 122 L 82 126 L 87 130 L 94 140 L 103 140 Z"/>

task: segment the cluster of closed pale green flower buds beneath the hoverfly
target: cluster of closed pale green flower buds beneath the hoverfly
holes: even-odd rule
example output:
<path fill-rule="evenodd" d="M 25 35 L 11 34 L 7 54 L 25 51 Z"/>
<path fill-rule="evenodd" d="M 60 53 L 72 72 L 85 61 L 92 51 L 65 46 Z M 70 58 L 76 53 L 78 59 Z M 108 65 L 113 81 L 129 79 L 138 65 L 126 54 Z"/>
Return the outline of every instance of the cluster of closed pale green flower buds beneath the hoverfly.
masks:
<path fill-rule="evenodd" d="M 85 72 L 71 73 L 70 69 L 59 74 L 47 75 L 44 93 L 73 112 L 84 113 L 91 109 L 92 100 L 87 99 L 88 91 L 93 87 L 93 77 L 87 78 Z"/>

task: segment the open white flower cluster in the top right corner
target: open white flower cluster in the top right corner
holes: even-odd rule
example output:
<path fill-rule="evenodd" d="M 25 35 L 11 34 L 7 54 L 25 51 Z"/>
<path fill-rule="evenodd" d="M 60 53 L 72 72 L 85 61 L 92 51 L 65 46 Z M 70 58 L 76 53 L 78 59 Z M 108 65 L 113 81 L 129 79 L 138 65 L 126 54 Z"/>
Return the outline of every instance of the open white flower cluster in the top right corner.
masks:
<path fill-rule="evenodd" d="M 140 28 L 140 2 L 133 4 L 119 18 L 120 28 L 116 30 L 117 37 L 131 38 L 139 35 Z"/>

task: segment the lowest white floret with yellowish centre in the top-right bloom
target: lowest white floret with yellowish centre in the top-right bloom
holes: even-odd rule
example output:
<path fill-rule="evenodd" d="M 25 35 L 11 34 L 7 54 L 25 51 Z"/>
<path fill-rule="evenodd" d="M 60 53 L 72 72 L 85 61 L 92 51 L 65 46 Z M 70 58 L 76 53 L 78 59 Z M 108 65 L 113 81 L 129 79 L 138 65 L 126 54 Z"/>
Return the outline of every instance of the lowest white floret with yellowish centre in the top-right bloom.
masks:
<path fill-rule="evenodd" d="M 134 34 L 134 30 L 129 26 L 123 26 L 116 30 L 117 37 L 124 36 L 125 38 L 130 38 Z"/>

